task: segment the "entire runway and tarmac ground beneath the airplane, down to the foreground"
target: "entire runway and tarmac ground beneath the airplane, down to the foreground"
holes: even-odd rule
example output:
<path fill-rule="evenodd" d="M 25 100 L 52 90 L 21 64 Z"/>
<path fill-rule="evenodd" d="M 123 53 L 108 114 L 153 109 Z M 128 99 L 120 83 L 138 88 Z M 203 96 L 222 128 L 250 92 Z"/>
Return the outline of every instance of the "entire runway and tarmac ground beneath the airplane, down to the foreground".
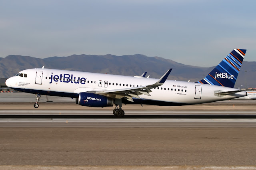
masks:
<path fill-rule="evenodd" d="M 112 109 L 0 103 L 0 169 L 256 169 L 253 102 Z"/>

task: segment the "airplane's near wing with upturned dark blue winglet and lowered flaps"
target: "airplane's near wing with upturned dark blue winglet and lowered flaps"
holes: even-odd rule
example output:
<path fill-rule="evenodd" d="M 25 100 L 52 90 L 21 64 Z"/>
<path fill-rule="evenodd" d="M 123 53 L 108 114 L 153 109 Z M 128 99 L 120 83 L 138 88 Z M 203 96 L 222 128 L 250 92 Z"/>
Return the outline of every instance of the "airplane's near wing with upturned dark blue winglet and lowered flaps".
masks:
<path fill-rule="evenodd" d="M 124 98 L 128 101 L 133 102 L 132 97 L 140 99 L 139 95 L 150 96 L 149 93 L 152 92 L 150 89 L 163 85 L 171 71 L 172 69 L 168 69 L 168 71 L 166 71 L 166 73 L 156 83 L 152 85 L 130 87 L 125 89 L 105 90 L 105 91 L 88 91 L 87 93 L 97 93 L 104 96 L 112 95 L 116 99 Z"/>

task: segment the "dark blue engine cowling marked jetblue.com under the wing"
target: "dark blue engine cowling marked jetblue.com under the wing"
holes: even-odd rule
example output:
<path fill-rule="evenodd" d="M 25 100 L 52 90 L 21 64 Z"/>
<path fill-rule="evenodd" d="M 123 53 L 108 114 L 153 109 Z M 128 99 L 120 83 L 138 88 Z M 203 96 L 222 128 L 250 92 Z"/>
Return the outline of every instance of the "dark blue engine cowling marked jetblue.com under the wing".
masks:
<path fill-rule="evenodd" d="M 113 103 L 114 99 L 111 97 L 86 92 L 79 93 L 79 97 L 76 99 L 76 104 L 88 107 L 109 107 L 113 106 Z"/>

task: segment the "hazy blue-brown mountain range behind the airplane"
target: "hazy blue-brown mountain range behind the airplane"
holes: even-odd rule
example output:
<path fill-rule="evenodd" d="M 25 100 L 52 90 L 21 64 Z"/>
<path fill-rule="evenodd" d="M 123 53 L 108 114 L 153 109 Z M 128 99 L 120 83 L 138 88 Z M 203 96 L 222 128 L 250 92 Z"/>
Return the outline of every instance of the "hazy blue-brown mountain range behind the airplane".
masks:
<path fill-rule="evenodd" d="M 51 68 L 115 75 L 142 75 L 148 71 L 150 78 L 160 78 L 169 68 L 172 68 L 168 79 L 195 82 L 203 79 L 215 66 L 197 67 L 177 63 L 171 59 L 148 57 L 146 55 L 71 55 L 68 57 L 48 57 L 44 59 L 8 55 L 0 58 L 0 78 L 16 75 L 21 70 L 30 68 Z M 235 87 L 256 87 L 256 62 L 243 61 Z"/>

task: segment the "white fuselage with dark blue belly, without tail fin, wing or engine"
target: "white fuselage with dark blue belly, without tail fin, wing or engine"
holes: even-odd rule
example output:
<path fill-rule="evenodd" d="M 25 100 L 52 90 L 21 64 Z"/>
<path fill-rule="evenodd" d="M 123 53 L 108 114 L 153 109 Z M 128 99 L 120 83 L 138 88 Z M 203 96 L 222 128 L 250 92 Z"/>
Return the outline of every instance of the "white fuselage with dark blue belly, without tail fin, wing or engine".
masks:
<path fill-rule="evenodd" d="M 57 69 L 26 69 L 20 71 L 26 77 L 14 76 L 6 80 L 6 85 L 18 91 L 41 95 L 78 98 L 79 93 L 104 91 L 152 85 L 158 79 L 136 78 L 122 75 L 109 75 Z M 159 87 L 151 89 L 150 96 L 133 98 L 134 103 L 150 105 L 193 105 L 234 99 L 246 96 L 245 91 L 230 95 L 219 95 L 218 91 L 238 89 L 185 81 L 166 80 Z M 123 103 L 132 103 L 122 100 Z"/>

